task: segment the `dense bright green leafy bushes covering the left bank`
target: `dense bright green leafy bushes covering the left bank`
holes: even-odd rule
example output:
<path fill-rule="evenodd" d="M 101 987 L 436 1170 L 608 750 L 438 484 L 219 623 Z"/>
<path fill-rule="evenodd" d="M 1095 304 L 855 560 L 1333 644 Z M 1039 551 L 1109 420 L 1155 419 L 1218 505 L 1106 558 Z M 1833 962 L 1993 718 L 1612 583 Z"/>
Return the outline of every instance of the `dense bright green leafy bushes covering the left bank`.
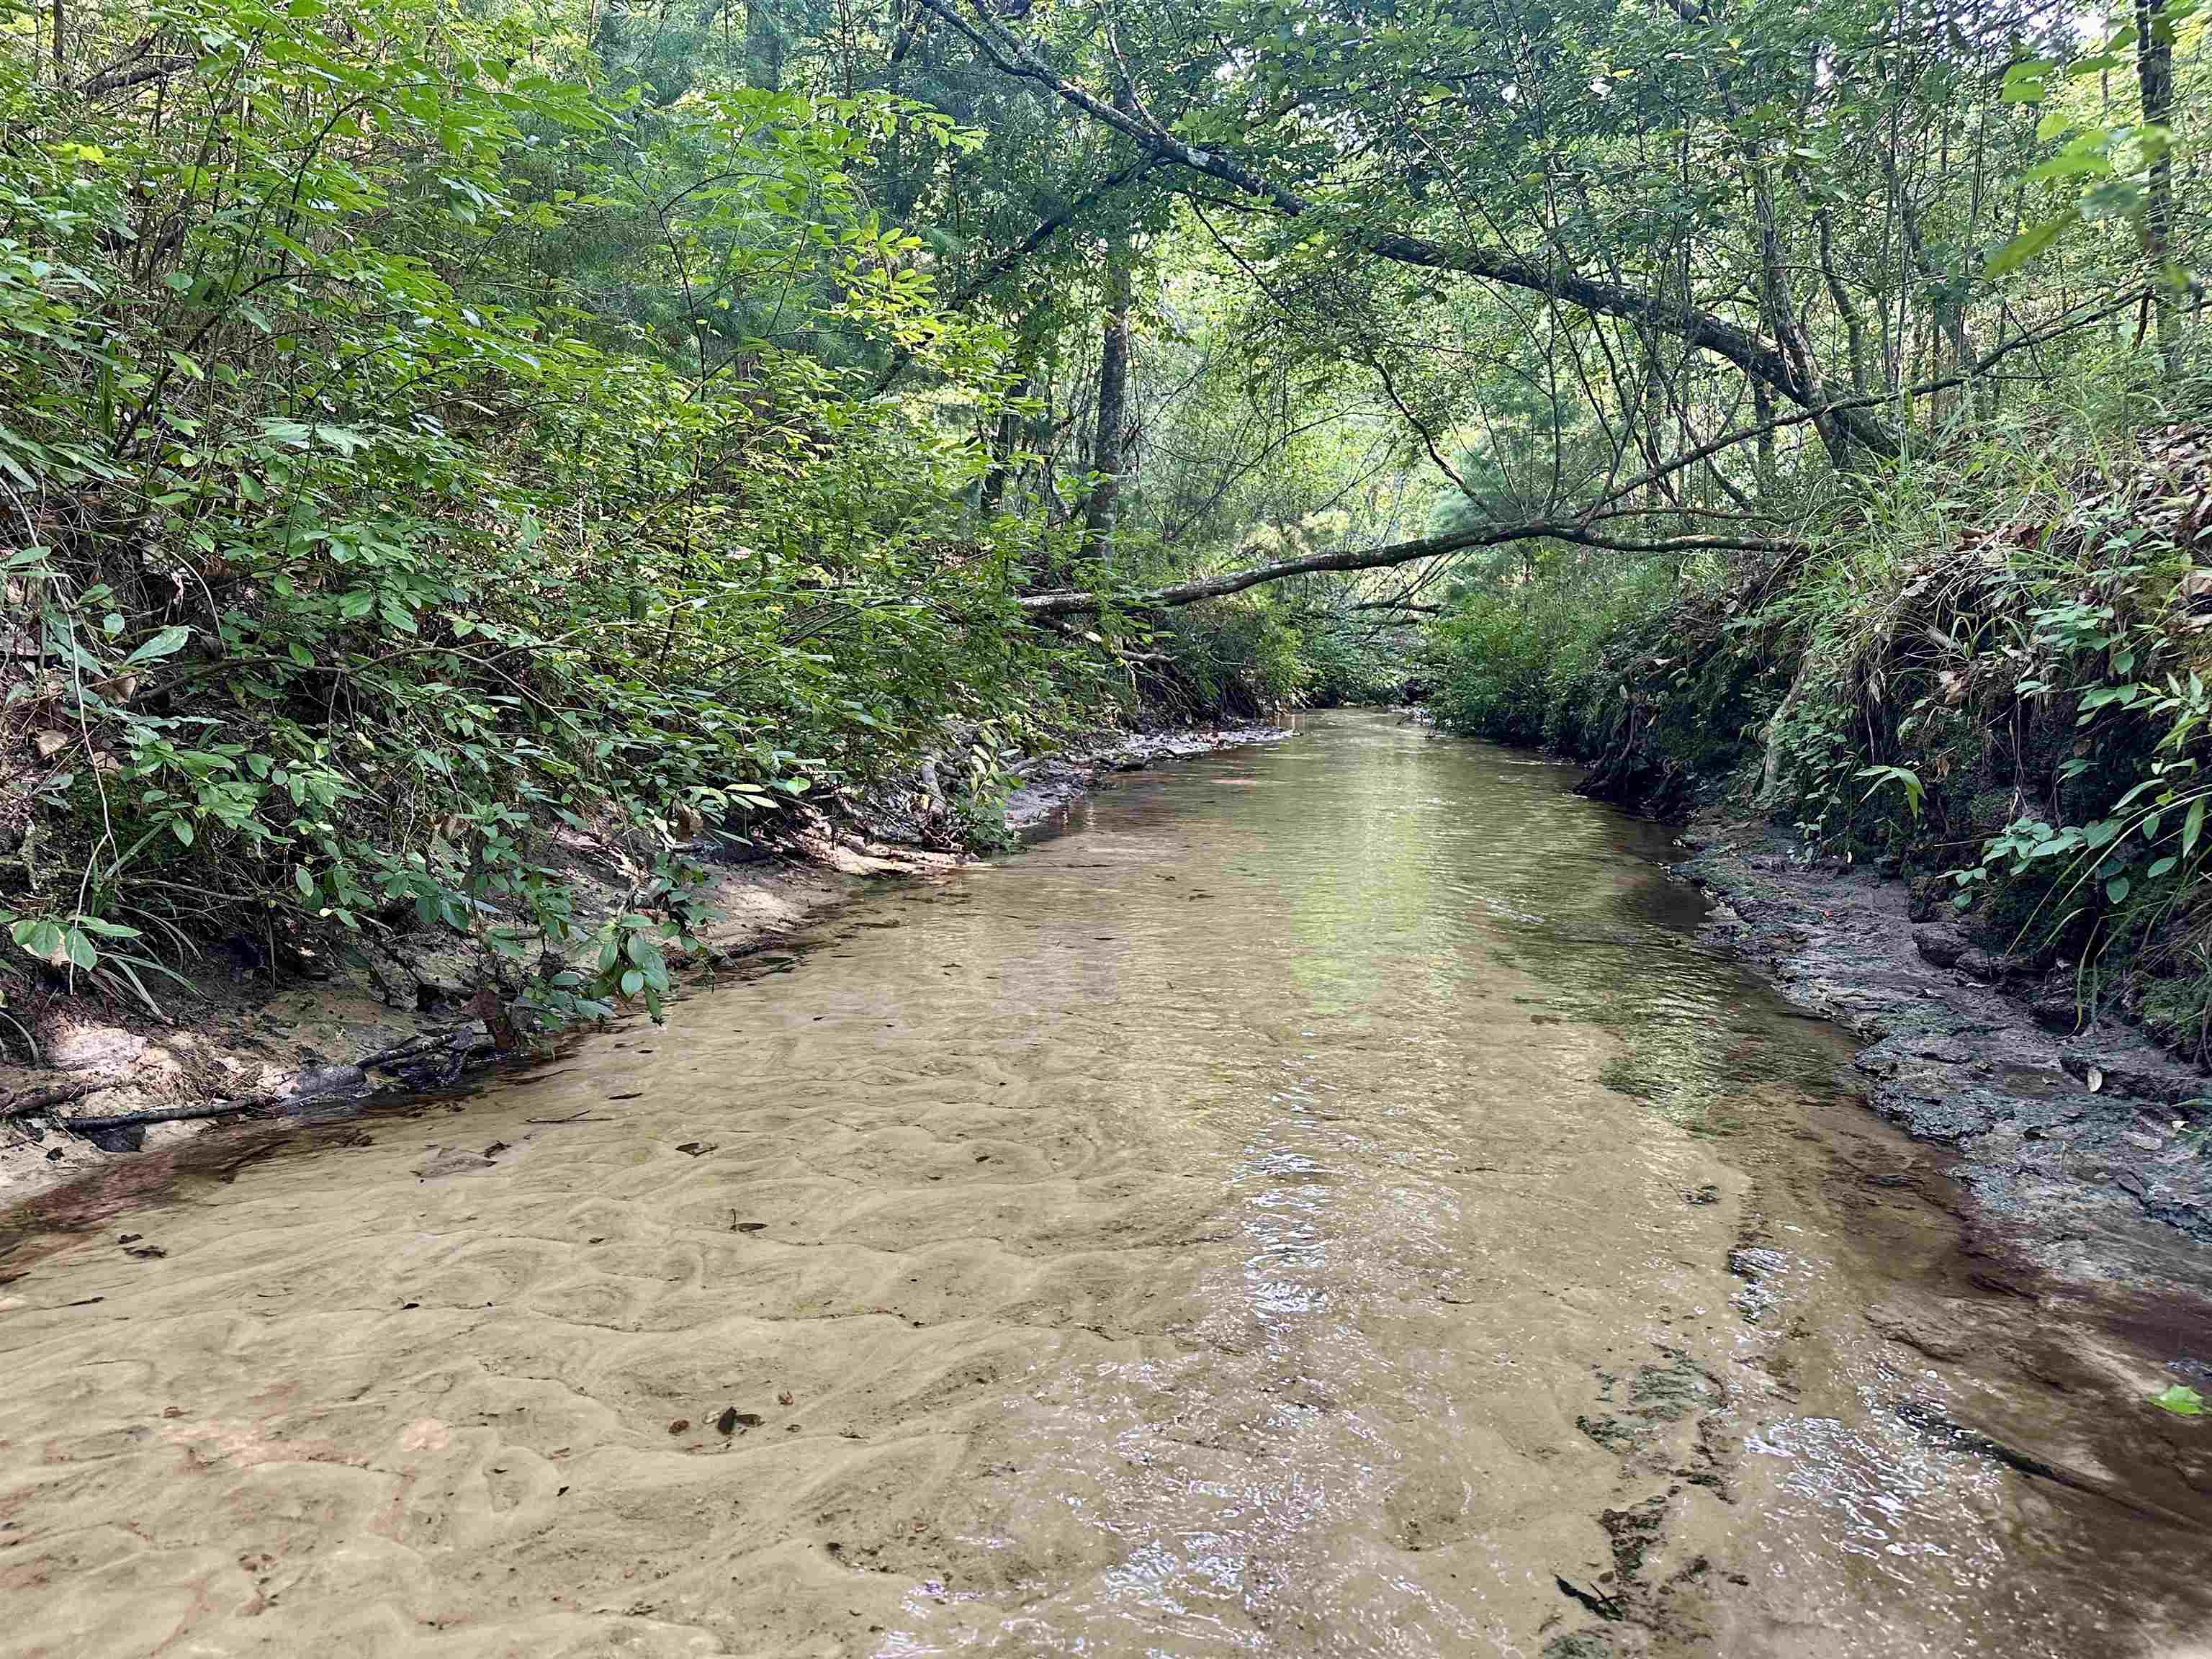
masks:
<path fill-rule="evenodd" d="M 4 86 L 29 956 L 146 995 L 192 938 L 431 925 L 553 1011 L 653 998 L 701 823 L 1053 717 L 1004 608 L 1051 533 L 867 396 L 883 343 L 995 396 L 858 184 L 958 155 L 945 117 L 655 106 L 542 18 L 425 4 L 77 29 L 91 95 Z M 635 876 L 591 951 L 586 836 Z"/>

